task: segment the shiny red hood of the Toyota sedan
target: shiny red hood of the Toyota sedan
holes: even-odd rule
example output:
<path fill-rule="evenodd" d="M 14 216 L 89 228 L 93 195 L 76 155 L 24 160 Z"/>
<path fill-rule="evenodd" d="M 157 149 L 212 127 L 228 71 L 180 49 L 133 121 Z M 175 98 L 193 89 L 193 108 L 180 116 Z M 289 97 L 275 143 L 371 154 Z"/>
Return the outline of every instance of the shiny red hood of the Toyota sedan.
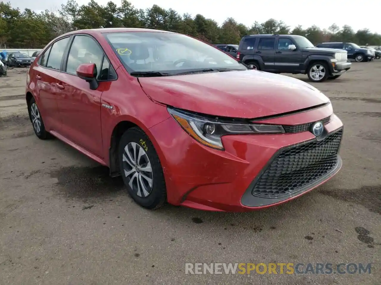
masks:
<path fill-rule="evenodd" d="M 258 118 L 329 102 L 315 87 L 257 70 L 139 78 L 152 100 L 221 117 Z"/>

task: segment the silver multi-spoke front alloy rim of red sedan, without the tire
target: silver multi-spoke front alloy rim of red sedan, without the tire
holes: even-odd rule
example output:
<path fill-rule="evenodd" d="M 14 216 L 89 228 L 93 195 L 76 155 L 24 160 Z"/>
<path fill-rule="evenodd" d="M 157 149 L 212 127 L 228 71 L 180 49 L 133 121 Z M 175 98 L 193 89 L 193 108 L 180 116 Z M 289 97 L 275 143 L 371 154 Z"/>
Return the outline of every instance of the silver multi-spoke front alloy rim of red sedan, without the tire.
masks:
<path fill-rule="evenodd" d="M 129 142 L 123 151 L 123 171 L 128 185 L 139 197 L 152 192 L 154 177 L 146 151 L 136 142 Z"/>

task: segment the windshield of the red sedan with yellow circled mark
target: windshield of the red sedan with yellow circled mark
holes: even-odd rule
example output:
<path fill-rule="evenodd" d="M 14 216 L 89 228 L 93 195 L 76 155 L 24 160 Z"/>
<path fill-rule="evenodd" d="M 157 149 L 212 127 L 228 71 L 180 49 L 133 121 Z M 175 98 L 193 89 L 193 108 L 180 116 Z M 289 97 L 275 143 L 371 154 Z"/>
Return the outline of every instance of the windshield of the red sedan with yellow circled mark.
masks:
<path fill-rule="evenodd" d="M 115 32 L 106 38 L 128 72 L 170 74 L 193 70 L 247 68 L 225 52 L 186 35 L 161 32 Z"/>

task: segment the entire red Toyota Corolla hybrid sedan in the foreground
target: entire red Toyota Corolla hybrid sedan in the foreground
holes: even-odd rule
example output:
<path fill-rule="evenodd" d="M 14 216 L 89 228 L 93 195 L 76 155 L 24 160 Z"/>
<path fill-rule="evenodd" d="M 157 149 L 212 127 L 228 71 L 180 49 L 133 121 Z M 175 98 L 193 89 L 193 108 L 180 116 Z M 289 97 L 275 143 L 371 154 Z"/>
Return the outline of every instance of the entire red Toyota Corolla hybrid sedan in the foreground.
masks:
<path fill-rule="evenodd" d="M 149 209 L 274 206 L 342 164 L 343 124 L 319 90 L 178 33 L 61 35 L 29 68 L 26 101 L 38 138 L 109 166 Z"/>

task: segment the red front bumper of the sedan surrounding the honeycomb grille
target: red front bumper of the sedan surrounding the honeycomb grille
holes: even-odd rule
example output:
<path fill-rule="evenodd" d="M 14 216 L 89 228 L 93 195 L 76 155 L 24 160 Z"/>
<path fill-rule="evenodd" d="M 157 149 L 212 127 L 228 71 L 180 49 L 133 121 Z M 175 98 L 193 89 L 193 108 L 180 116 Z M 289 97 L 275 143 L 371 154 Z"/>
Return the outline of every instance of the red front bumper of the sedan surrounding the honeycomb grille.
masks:
<path fill-rule="evenodd" d="M 331 107 L 320 108 L 291 115 L 284 117 L 284 122 L 301 124 L 331 115 L 331 119 L 325 125 L 325 133 L 329 138 L 329 135 L 339 131 L 343 126 L 341 120 L 335 114 L 331 114 L 330 110 Z M 154 138 L 155 149 L 163 166 L 168 202 L 195 209 L 243 212 L 275 206 L 309 192 L 330 179 L 341 168 L 341 158 L 337 149 L 337 155 L 334 155 L 337 158 L 335 165 L 318 179 L 299 187 L 297 191 L 291 189 L 292 191 L 285 191 L 282 195 L 272 197 L 253 195 L 253 189 L 256 186 L 258 188 L 258 179 L 263 176 L 269 163 L 274 161 L 280 152 L 290 146 L 316 140 L 310 131 L 278 135 L 224 136 L 224 151 L 199 144 L 182 130 L 173 118 L 168 118 L 150 128 L 150 135 Z M 314 154 L 314 150 L 307 153 L 307 158 L 305 157 L 306 167 L 310 154 Z M 313 159 L 316 160 L 316 157 Z M 295 160 L 295 167 L 301 162 Z M 312 160 L 311 162 L 319 163 Z M 292 172 L 295 168 L 288 170 Z M 274 177 L 272 179 L 274 182 Z M 293 181 L 288 182 L 290 183 Z M 273 188 L 277 186 L 279 185 L 275 184 Z M 270 189 L 270 192 L 274 189 Z"/>

